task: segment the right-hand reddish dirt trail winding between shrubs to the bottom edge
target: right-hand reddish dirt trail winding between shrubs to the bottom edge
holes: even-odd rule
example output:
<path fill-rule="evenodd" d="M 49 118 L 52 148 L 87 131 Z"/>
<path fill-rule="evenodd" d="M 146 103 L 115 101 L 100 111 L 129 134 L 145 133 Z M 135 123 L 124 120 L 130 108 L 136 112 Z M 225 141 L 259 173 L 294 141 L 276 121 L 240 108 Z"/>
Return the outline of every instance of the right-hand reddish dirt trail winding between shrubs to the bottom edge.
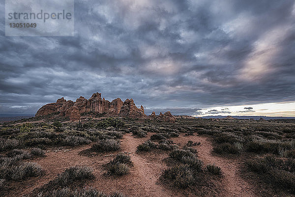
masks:
<path fill-rule="evenodd" d="M 223 194 L 224 197 L 256 197 L 252 191 L 252 186 L 250 186 L 245 180 L 243 180 L 239 174 L 239 168 L 243 161 L 239 159 L 227 159 L 223 157 L 218 157 L 212 155 L 211 151 L 213 149 L 212 142 L 203 136 L 179 136 L 175 138 L 176 143 L 184 145 L 187 141 L 201 142 L 200 145 L 196 146 L 198 150 L 199 158 L 207 164 L 215 164 L 219 166 L 223 171 L 223 182 L 225 184 L 226 193 Z"/>

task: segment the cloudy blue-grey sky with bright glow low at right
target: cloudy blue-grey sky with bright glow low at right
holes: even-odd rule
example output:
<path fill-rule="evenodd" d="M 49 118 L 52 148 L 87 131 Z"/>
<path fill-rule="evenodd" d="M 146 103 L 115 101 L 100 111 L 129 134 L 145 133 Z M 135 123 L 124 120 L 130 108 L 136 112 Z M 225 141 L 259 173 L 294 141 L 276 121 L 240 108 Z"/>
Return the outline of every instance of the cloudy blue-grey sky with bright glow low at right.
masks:
<path fill-rule="evenodd" d="M 75 0 L 74 36 L 8 37 L 0 113 L 101 92 L 146 113 L 295 116 L 294 0 Z"/>

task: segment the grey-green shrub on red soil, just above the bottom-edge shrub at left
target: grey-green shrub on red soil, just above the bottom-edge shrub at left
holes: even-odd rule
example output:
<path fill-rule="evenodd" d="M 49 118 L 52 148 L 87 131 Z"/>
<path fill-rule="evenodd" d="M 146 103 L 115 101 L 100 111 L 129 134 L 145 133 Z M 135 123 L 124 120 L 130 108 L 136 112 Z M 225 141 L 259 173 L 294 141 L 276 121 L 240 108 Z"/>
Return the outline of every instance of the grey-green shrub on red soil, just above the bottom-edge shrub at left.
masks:
<path fill-rule="evenodd" d="M 55 182 L 61 186 L 67 186 L 77 180 L 93 179 L 92 169 L 87 166 L 75 166 L 65 169 L 58 175 Z"/>

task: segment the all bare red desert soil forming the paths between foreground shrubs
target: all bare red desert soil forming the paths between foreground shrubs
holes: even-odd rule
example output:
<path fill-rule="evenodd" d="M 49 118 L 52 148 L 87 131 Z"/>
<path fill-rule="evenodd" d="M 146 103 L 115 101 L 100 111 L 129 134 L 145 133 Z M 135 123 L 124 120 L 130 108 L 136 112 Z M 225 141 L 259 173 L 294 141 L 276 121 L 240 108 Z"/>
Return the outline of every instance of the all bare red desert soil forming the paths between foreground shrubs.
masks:
<path fill-rule="evenodd" d="M 165 163 L 162 161 L 167 158 L 167 153 L 148 153 L 137 154 L 136 147 L 138 144 L 149 139 L 134 138 L 131 134 L 124 135 L 121 139 L 121 151 L 130 154 L 134 167 L 130 169 L 130 173 L 121 177 L 106 177 L 104 176 L 103 164 L 108 163 L 113 159 L 116 153 L 112 155 L 94 154 L 93 156 L 81 155 L 81 151 L 91 147 L 91 144 L 81 146 L 71 150 L 60 149 L 55 152 L 53 149 L 46 153 L 45 158 L 33 160 L 38 163 L 46 174 L 42 177 L 31 178 L 24 182 L 15 182 L 13 188 L 6 196 L 23 196 L 31 194 L 31 192 L 41 187 L 42 185 L 53 180 L 58 173 L 71 166 L 89 166 L 93 169 L 95 175 L 94 180 L 87 181 L 85 186 L 94 187 L 105 193 L 120 191 L 130 197 L 145 196 L 145 197 L 181 197 L 194 196 L 185 190 L 169 189 L 159 184 L 159 177 L 163 169 L 166 169 Z M 211 154 L 212 144 L 206 137 L 189 136 L 173 138 L 176 143 L 184 145 L 188 140 L 200 141 L 201 145 L 197 146 L 199 157 L 205 164 L 216 164 L 224 172 L 223 182 L 225 189 L 222 192 L 222 197 L 255 197 L 251 191 L 251 186 L 247 184 L 239 175 L 238 168 L 240 164 L 230 159 L 213 156 Z"/>

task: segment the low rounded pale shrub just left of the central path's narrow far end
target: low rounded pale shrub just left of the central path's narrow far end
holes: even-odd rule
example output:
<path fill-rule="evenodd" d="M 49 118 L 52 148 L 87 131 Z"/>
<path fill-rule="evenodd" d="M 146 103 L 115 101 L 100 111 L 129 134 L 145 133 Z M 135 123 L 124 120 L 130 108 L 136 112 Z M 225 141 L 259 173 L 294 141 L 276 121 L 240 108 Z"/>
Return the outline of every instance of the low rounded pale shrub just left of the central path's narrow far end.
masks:
<path fill-rule="evenodd" d="M 92 149 L 96 152 L 116 151 L 120 149 L 120 143 L 113 139 L 98 140 L 92 145 Z"/>

